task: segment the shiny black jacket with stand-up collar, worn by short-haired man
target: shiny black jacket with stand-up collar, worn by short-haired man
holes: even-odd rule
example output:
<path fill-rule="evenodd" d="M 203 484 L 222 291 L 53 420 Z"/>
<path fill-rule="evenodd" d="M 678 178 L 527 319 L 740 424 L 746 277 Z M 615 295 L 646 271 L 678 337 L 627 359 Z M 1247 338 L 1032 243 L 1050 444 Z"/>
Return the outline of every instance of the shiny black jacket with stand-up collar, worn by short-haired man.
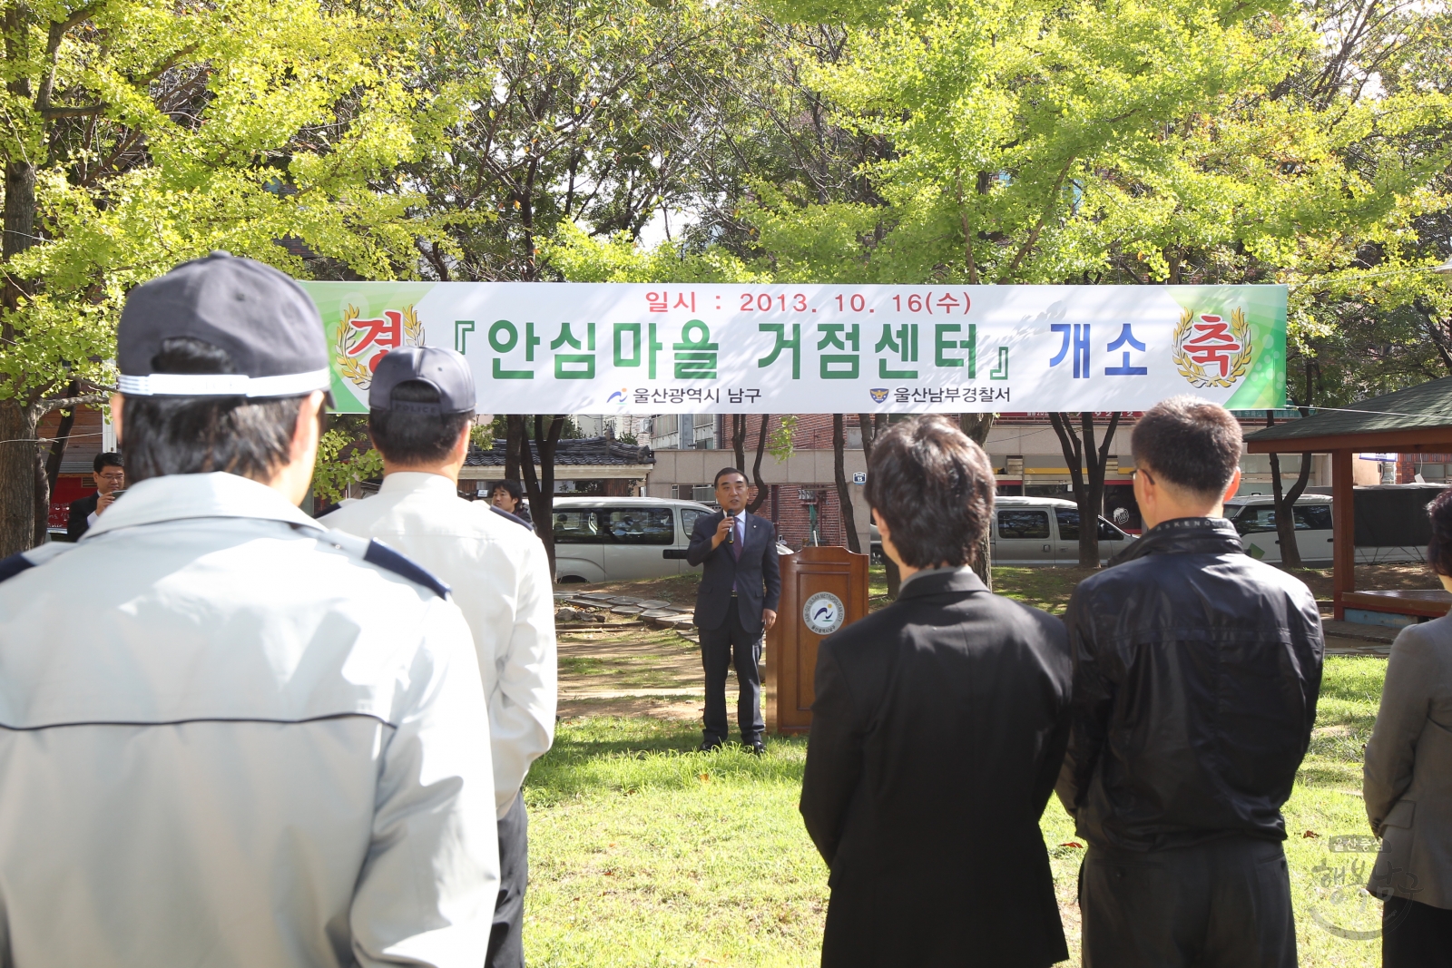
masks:
<path fill-rule="evenodd" d="M 1224 518 L 1150 528 L 1079 583 L 1074 727 L 1059 798 L 1089 843 L 1285 839 L 1321 686 L 1321 615 Z"/>

